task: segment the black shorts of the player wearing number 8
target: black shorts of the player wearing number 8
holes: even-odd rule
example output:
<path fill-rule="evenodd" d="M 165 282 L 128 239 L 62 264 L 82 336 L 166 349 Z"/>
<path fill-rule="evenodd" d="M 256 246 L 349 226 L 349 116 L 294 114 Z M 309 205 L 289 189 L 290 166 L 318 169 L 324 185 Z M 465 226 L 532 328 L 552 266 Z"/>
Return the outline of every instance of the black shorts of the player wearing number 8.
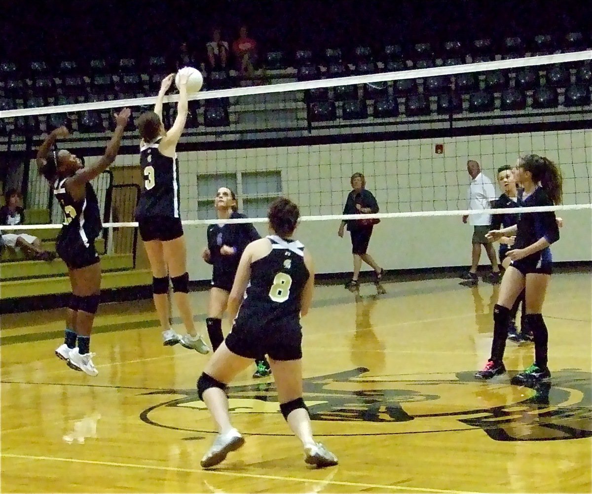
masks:
<path fill-rule="evenodd" d="M 224 341 L 232 353 L 246 359 L 260 359 L 263 355 L 274 360 L 302 359 L 302 327 L 298 321 L 262 325 L 256 318 L 241 317 L 239 311 Z"/>

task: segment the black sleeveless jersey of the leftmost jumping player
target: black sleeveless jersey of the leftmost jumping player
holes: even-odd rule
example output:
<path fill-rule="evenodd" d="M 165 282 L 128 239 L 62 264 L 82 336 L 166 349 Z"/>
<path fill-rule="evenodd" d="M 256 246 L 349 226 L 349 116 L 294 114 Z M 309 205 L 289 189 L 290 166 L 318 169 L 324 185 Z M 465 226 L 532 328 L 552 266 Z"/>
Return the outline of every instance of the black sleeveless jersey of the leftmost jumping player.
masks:
<path fill-rule="evenodd" d="M 101 233 L 99 201 L 96 199 L 95 190 L 88 182 L 85 185 L 85 197 L 81 201 L 75 201 L 66 191 L 66 180 L 57 179 L 53 186 L 53 194 L 64 212 L 64 224 L 60 235 L 73 241 L 80 239 L 88 247 Z"/>

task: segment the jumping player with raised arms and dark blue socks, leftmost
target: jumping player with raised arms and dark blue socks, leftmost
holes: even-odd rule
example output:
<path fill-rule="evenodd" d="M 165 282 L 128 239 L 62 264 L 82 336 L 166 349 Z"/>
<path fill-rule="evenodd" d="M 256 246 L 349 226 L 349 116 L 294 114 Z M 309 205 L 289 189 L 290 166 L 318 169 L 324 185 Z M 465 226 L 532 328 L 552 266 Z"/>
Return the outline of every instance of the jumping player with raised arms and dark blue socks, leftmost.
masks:
<path fill-rule="evenodd" d="M 87 167 L 65 149 L 50 151 L 58 138 L 69 135 L 66 127 L 50 133 L 37 151 L 39 173 L 53 185 L 53 194 L 64 213 L 56 251 L 66 263 L 72 285 L 64 343 L 56 348 L 56 356 L 66 360 L 72 369 L 89 376 L 98 374 L 92 362 L 95 354 L 91 353 L 90 347 L 92 323 L 101 298 L 101 265 L 95 239 L 102 228 L 99 202 L 90 182 L 115 160 L 128 118 L 130 111 L 127 108 L 115 116 L 117 127 L 105 154 Z"/>

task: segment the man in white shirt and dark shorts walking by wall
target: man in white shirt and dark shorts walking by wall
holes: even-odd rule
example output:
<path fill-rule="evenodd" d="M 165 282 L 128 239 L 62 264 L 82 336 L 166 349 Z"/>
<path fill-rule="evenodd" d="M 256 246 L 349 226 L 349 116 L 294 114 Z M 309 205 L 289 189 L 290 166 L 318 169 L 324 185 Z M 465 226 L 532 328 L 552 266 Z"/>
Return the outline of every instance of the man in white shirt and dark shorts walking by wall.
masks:
<path fill-rule="evenodd" d="M 466 171 L 471 176 L 471 185 L 468 189 L 469 204 L 471 211 L 482 211 L 491 208 L 491 202 L 496 200 L 496 189 L 493 182 L 481 173 L 481 167 L 475 160 L 466 162 Z M 497 264 L 496 251 L 490 241 L 485 238 L 485 234 L 490 230 L 491 215 L 487 213 L 478 213 L 465 215 L 462 222 L 473 225 L 472 237 L 472 260 L 471 270 L 462 276 L 465 281 L 462 285 L 472 286 L 477 284 L 477 266 L 481 257 L 481 246 L 485 247 L 487 257 L 491 261 L 491 273 L 483 277 L 484 281 L 497 285 L 500 282 L 500 267 Z"/>

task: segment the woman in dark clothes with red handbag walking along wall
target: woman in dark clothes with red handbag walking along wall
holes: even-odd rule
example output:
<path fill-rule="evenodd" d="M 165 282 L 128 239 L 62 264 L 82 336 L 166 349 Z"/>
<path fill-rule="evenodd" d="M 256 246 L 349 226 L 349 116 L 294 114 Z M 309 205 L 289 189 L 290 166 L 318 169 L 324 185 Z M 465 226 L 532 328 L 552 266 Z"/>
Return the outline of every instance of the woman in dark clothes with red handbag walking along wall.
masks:
<path fill-rule="evenodd" d="M 378 212 L 378 204 L 372 192 L 366 191 L 366 179 L 362 173 L 354 173 L 350 179 L 353 191 L 349 193 L 343 208 L 343 214 L 369 214 Z M 377 285 L 382 280 L 384 270 L 378 266 L 368 251 L 368 244 L 372 235 L 372 228 L 378 222 L 377 219 L 349 219 L 341 222 L 337 235 L 343 237 L 343 227 L 348 225 L 352 237 L 353 276 L 346 283 L 345 288 L 355 290 L 359 288 L 358 275 L 362 267 L 362 261 L 374 269 L 374 280 Z"/>

